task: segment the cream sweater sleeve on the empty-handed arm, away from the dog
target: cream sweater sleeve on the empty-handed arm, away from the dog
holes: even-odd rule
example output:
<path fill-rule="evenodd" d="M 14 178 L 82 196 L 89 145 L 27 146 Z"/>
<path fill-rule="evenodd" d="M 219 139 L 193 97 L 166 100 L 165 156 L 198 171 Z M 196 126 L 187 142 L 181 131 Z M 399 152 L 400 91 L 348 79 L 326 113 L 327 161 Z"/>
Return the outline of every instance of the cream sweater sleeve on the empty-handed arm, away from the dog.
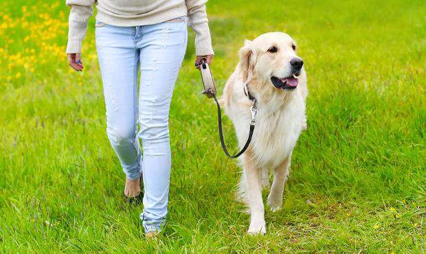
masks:
<path fill-rule="evenodd" d="M 81 45 L 87 30 L 87 21 L 93 14 L 95 0 L 67 0 L 71 8 L 68 19 L 67 54 L 81 53 Z"/>

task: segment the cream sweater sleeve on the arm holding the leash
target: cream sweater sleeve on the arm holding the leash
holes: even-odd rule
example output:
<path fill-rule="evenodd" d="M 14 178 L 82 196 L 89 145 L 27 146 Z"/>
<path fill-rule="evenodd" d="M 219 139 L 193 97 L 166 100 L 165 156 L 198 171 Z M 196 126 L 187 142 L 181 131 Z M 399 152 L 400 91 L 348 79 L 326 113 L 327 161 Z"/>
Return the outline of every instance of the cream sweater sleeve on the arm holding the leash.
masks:
<path fill-rule="evenodd" d="M 186 0 L 188 23 L 195 32 L 195 54 L 207 56 L 214 54 L 212 38 L 207 19 L 205 3 L 208 0 Z"/>

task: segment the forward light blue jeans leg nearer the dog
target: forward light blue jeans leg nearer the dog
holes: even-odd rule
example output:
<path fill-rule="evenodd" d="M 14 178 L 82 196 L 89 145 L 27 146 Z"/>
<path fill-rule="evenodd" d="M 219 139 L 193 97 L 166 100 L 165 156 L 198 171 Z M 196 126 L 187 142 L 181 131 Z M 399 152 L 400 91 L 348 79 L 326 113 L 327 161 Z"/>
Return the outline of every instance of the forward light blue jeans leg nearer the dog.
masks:
<path fill-rule="evenodd" d="M 144 175 L 144 229 L 160 231 L 167 214 L 170 179 L 168 113 L 173 88 L 186 51 L 186 17 L 138 27 L 140 48 L 139 133 Z M 138 37 L 139 36 L 139 37 Z"/>

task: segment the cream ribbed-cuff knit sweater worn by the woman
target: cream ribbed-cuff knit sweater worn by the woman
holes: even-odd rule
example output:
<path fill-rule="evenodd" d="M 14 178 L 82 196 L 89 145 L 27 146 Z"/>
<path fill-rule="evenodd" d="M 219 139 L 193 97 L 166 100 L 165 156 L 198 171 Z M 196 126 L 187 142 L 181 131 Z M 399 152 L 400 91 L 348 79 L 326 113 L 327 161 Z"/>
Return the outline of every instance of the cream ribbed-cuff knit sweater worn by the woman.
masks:
<path fill-rule="evenodd" d="M 67 0 L 69 31 L 67 53 L 80 53 L 87 30 L 87 21 L 97 3 L 96 19 L 116 26 L 150 25 L 188 16 L 195 36 L 197 56 L 213 54 L 205 3 L 208 0 Z"/>

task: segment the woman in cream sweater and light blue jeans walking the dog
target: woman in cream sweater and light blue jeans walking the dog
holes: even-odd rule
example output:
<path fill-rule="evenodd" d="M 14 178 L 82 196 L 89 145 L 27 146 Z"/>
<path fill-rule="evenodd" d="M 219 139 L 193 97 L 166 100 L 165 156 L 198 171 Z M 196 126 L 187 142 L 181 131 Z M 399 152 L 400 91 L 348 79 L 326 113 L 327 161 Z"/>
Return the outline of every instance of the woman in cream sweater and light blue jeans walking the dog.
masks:
<path fill-rule="evenodd" d="M 97 4 L 96 48 L 106 104 L 106 134 L 126 174 L 124 196 L 130 200 L 140 197 L 139 179 L 143 178 L 144 211 L 140 218 L 149 236 L 161 231 L 166 219 L 171 164 L 168 113 L 186 51 L 187 18 L 196 32 L 196 67 L 202 56 L 209 63 L 212 60 L 206 1 L 66 1 L 71 7 L 67 57 L 76 71 L 83 69 L 82 40 L 92 5 Z"/>

